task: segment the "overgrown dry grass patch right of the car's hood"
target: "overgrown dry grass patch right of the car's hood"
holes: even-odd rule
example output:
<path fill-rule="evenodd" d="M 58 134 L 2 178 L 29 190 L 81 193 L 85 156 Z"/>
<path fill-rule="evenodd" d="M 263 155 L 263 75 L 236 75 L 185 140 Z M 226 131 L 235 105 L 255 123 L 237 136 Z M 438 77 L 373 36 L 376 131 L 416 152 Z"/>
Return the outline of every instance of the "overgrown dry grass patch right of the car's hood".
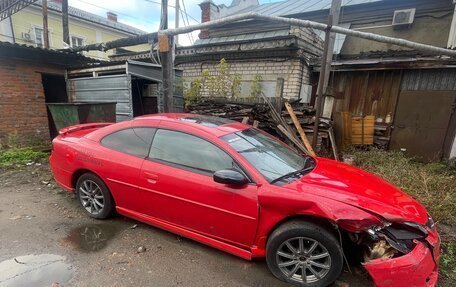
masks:
<path fill-rule="evenodd" d="M 422 163 L 401 152 L 353 150 L 356 165 L 377 174 L 421 202 L 434 220 L 445 225 L 440 259 L 439 286 L 456 286 L 456 167 Z"/>

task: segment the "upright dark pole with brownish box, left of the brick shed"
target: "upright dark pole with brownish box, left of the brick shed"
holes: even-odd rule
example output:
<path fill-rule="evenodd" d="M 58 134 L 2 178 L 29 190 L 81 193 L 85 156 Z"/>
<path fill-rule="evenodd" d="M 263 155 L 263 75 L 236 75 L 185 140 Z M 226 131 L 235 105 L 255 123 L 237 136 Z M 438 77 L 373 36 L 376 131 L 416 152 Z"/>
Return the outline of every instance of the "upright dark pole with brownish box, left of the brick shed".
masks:
<path fill-rule="evenodd" d="M 162 27 L 160 30 L 168 29 L 168 0 L 162 0 Z M 173 111 L 174 98 L 174 36 L 168 34 L 158 34 L 158 47 L 162 64 L 163 75 L 163 111 L 169 113 Z"/>

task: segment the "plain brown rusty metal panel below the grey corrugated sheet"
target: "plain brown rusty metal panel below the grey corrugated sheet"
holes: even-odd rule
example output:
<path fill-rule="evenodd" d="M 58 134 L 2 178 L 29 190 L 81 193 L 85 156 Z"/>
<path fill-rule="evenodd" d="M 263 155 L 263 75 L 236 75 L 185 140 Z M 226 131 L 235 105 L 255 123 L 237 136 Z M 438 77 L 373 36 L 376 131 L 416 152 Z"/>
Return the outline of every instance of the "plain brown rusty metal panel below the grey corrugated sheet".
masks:
<path fill-rule="evenodd" d="M 455 100 L 455 91 L 401 92 L 391 149 L 424 160 L 440 159 Z"/>

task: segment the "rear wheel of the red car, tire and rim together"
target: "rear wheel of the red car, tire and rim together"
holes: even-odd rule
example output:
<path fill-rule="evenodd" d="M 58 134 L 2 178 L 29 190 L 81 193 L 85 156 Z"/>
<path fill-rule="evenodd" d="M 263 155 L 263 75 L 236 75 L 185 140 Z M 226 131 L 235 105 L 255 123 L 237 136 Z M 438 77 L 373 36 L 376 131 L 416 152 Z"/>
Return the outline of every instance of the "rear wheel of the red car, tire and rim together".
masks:
<path fill-rule="evenodd" d="M 114 199 L 106 184 L 93 173 L 78 178 L 76 194 L 82 209 L 96 219 L 106 219 L 115 212 Z"/>

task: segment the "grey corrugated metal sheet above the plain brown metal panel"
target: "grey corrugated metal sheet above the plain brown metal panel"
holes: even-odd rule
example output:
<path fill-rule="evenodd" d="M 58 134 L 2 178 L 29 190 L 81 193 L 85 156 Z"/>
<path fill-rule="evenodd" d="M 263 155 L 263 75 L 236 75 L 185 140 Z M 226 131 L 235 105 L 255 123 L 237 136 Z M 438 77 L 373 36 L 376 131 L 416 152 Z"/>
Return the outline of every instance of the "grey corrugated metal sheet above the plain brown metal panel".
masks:
<path fill-rule="evenodd" d="M 456 69 L 404 71 L 402 91 L 456 91 Z"/>

